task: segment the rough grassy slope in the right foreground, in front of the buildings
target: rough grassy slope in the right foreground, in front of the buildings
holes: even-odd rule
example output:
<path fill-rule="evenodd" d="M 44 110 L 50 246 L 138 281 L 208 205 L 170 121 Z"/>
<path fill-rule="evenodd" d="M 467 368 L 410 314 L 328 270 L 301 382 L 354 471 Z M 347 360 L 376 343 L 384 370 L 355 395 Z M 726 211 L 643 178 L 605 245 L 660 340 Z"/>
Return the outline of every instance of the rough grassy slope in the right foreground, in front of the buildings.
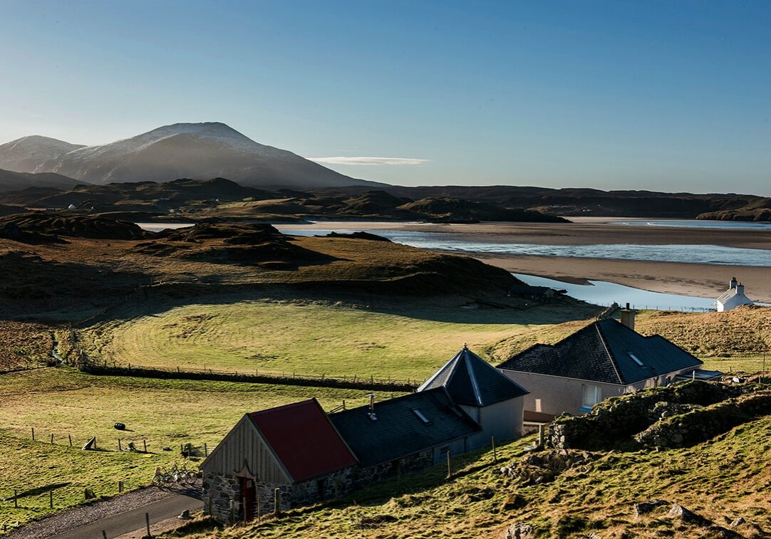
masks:
<path fill-rule="evenodd" d="M 520 486 L 500 474 L 490 450 L 457 458 L 446 480 L 439 465 L 379 484 L 339 504 L 291 511 L 278 520 L 248 527 L 165 537 L 504 537 L 515 522 L 533 525 L 537 537 L 707 537 L 703 528 L 662 512 L 635 521 L 638 501 L 665 499 L 727 527 L 743 517 L 744 537 L 771 531 L 771 417 L 736 427 L 689 449 L 597 454 L 586 467 L 572 468 L 553 483 Z M 518 460 L 527 437 L 498 449 L 505 462 Z M 664 511 L 665 513 L 665 511 Z M 197 531 L 196 531 L 197 529 Z M 595 533 L 597 536 L 589 534 Z M 755 534 L 754 536 L 752 534 Z"/>

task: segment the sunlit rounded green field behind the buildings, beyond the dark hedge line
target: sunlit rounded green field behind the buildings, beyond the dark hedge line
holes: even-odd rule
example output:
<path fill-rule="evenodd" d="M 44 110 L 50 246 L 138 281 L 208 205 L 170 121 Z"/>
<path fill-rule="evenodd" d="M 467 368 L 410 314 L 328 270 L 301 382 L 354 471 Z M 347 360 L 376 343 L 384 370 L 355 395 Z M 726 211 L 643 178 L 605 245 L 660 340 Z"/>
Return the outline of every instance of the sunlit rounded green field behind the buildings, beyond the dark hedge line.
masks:
<path fill-rule="evenodd" d="M 175 306 L 82 331 L 93 356 L 120 364 L 423 380 L 468 343 L 497 343 L 591 316 L 585 307 L 475 309 L 420 303 L 375 310 L 311 301 Z"/>

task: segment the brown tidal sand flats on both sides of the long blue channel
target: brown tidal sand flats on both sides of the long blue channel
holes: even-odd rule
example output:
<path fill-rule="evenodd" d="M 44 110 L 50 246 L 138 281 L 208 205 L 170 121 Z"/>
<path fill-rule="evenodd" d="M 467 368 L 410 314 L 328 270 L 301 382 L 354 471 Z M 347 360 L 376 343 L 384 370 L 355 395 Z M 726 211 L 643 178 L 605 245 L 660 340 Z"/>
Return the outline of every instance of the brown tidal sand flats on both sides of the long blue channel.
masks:
<path fill-rule="evenodd" d="M 608 220 L 581 219 L 580 223 L 368 223 L 321 222 L 282 226 L 291 229 L 408 229 L 425 232 L 453 232 L 470 239 L 500 243 L 592 245 L 637 243 L 643 245 L 722 245 L 748 249 L 771 249 L 771 233 L 757 229 L 699 229 L 609 224 Z M 472 255 L 473 256 L 473 255 Z M 771 268 L 717 264 L 649 262 L 626 259 L 591 259 L 565 256 L 476 256 L 513 273 L 551 277 L 567 282 L 603 280 L 654 292 L 715 298 L 728 287 L 732 276 L 745 283 L 753 300 L 771 303 Z"/>

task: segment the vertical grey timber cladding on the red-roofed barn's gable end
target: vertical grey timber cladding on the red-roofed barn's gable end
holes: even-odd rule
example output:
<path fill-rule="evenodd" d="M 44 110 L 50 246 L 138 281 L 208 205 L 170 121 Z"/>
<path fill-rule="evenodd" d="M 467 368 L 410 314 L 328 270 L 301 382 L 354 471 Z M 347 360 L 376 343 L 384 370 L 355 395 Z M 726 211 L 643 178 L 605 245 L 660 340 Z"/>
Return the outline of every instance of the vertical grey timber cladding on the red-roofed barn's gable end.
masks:
<path fill-rule="evenodd" d="M 261 483 L 290 484 L 291 478 L 278 464 L 251 420 L 244 416 L 231 433 L 214 449 L 202 469 L 216 474 L 233 476 L 246 463 Z"/>

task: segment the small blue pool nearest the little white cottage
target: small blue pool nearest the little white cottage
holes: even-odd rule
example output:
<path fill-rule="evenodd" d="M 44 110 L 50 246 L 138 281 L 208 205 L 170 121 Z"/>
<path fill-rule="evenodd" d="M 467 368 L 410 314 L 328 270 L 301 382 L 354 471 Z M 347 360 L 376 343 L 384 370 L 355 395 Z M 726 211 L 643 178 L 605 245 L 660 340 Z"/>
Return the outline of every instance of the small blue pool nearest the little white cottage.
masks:
<path fill-rule="evenodd" d="M 606 281 L 589 281 L 591 284 L 582 285 L 521 273 L 513 273 L 512 275 L 532 286 L 549 286 L 557 290 L 567 290 L 568 296 L 595 305 L 608 306 L 615 302 L 619 305 L 630 303 L 631 307 L 635 309 L 679 311 L 715 309 L 715 300 L 709 298 L 650 292 Z"/>

